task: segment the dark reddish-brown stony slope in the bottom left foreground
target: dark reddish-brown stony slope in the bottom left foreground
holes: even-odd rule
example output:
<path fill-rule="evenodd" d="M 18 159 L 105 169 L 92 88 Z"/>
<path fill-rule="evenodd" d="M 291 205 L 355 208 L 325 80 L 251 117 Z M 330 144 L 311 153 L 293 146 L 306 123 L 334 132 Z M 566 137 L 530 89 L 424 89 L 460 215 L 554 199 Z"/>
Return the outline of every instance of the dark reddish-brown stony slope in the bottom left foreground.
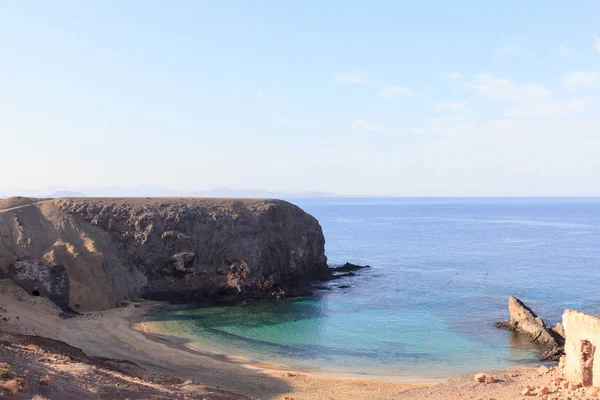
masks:
<path fill-rule="evenodd" d="M 89 357 L 64 342 L 39 336 L 0 333 L 0 360 L 3 377 L 0 379 L 0 398 L 244 398 L 181 378 L 152 373 L 128 361 Z"/>

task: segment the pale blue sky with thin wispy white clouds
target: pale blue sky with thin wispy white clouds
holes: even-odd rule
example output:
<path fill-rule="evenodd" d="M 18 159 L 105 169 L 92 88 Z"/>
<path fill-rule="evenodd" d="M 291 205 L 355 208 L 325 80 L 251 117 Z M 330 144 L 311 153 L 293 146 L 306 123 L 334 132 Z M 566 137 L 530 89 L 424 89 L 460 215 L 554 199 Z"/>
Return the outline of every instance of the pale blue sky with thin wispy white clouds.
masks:
<path fill-rule="evenodd" d="M 0 192 L 600 196 L 599 19 L 595 0 L 0 0 Z"/>

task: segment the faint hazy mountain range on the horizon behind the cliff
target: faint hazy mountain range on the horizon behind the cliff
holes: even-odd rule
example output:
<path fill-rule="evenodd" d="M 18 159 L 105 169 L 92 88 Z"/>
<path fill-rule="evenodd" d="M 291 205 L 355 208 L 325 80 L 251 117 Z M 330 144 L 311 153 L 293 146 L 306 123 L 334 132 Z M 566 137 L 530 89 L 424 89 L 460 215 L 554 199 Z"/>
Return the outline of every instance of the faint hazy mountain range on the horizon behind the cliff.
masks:
<path fill-rule="evenodd" d="M 310 197 L 344 197 L 327 192 L 283 192 L 265 189 L 231 189 L 215 188 L 211 190 L 172 190 L 155 186 L 131 187 L 87 187 L 76 189 L 45 188 L 35 190 L 0 190 L 0 198 L 12 196 L 25 197 L 238 197 L 238 198 L 310 198 Z"/>

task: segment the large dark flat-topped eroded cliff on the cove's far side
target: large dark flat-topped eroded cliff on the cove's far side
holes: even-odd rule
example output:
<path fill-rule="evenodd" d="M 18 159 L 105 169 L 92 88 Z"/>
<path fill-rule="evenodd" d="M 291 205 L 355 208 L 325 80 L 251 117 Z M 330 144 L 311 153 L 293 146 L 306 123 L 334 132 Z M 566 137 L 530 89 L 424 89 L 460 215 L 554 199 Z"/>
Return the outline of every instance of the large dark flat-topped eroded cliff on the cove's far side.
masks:
<path fill-rule="evenodd" d="M 280 200 L 58 199 L 0 211 L 0 278 L 74 310 L 294 294 L 330 277 L 324 245 L 317 220 Z M 68 290 L 47 292 L 63 270 Z"/>

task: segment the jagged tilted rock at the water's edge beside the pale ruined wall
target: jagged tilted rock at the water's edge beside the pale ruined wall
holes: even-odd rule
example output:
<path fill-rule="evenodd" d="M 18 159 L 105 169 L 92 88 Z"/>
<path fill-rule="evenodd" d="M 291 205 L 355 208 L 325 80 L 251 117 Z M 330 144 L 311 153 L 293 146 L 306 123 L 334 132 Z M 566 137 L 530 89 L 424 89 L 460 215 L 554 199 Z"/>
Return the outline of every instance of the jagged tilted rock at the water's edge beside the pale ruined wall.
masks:
<path fill-rule="evenodd" d="M 517 331 L 528 336 L 532 342 L 546 347 L 546 352 L 542 355 L 542 360 L 558 361 L 564 354 L 564 336 L 546 325 L 529 307 L 521 300 L 510 296 L 508 299 L 508 312 L 510 319 L 508 321 L 497 322 L 498 328 L 505 328 L 511 331 Z"/>

